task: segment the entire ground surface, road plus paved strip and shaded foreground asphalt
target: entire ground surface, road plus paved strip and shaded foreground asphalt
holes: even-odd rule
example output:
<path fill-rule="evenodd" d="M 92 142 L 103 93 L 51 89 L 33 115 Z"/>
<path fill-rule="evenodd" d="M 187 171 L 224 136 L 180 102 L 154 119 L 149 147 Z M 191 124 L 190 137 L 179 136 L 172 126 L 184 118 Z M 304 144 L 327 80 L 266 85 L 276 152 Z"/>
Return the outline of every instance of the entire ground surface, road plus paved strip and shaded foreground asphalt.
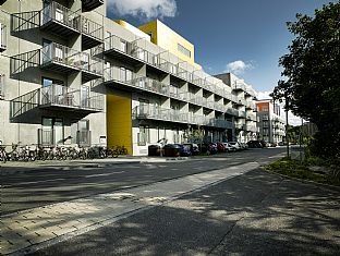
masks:
<path fill-rule="evenodd" d="M 38 256 L 338 255 L 340 190 L 258 169 L 283 155 L 1 167 L 7 212 L 31 209 L 2 216 L 0 247 Z"/>

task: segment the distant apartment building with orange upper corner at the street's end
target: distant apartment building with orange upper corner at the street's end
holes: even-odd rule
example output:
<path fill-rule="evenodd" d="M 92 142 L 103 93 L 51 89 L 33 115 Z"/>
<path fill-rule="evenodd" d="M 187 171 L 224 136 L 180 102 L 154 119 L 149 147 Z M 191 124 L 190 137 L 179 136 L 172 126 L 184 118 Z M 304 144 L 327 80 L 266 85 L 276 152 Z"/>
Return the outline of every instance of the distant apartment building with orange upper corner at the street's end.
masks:
<path fill-rule="evenodd" d="M 286 136 L 286 122 L 281 118 L 281 108 L 272 100 L 256 101 L 258 117 L 258 138 L 269 143 L 282 142 Z"/>

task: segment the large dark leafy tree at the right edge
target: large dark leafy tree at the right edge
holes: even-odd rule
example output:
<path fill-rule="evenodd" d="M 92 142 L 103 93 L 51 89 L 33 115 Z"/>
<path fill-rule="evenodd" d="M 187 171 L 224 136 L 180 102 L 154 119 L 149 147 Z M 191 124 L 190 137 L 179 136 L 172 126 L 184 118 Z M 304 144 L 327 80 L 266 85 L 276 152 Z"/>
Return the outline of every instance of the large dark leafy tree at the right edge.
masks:
<path fill-rule="evenodd" d="M 282 76 L 272 97 L 317 125 L 314 153 L 340 156 L 340 3 L 329 3 L 311 17 L 296 14 L 288 29 L 295 36 L 281 57 Z"/>

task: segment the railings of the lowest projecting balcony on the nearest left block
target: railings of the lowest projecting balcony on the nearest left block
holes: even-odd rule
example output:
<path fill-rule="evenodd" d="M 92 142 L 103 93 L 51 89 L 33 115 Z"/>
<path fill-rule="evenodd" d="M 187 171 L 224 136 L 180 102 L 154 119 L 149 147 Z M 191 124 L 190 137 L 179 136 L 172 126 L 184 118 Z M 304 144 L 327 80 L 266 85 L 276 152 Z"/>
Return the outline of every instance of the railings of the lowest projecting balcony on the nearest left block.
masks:
<path fill-rule="evenodd" d="M 11 100 L 11 120 L 34 109 L 94 113 L 104 110 L 104 96 L 89 90 L 71 89 L 52 84 L 22 95 Z"/>

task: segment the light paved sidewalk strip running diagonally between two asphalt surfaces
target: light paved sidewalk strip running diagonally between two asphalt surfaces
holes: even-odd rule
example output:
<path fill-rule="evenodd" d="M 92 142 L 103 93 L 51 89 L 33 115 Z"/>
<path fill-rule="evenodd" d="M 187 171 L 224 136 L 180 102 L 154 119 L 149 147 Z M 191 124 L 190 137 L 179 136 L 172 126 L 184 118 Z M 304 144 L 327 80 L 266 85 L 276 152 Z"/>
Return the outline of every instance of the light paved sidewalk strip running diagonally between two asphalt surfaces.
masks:
<path fill-rule="evenodd" d="M 35 252 L 257 167 L 258 163 L 251 162 L 3 216 L 1 253 Z"/>

